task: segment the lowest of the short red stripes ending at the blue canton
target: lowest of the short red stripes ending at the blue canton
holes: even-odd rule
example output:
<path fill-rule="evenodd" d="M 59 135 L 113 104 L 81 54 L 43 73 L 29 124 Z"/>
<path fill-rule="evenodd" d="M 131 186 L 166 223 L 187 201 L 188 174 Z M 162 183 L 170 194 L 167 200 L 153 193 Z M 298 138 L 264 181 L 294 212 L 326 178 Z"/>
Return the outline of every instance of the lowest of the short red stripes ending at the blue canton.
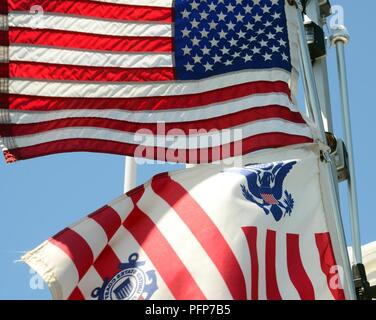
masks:
<path fill-rule="evenodd" d="M 33 62 L 10 62 L 8 68 L 11 78 L 37 80 L 145 82 L 169 81 L 174 78 L 173 68 L 102 68 Z M 111 101 L 107 99 L 107 105 L 109 104 Z"/>

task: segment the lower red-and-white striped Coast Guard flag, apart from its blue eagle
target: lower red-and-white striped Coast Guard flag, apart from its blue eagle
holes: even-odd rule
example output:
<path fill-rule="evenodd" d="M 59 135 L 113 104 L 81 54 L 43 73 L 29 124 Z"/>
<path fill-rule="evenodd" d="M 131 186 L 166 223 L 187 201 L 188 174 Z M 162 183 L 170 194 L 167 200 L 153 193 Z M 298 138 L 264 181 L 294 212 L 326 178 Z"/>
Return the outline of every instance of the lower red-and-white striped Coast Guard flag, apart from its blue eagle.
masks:
<path fill-rule="evenodd" d="M 278 222 L 244 198 L 237 168 L 197 166 L 155 176 L 23 260 L 55 299 L 344 299 L 318 154 L 273 153 L 295 164 L 282 186 L 294 207 Z"/>

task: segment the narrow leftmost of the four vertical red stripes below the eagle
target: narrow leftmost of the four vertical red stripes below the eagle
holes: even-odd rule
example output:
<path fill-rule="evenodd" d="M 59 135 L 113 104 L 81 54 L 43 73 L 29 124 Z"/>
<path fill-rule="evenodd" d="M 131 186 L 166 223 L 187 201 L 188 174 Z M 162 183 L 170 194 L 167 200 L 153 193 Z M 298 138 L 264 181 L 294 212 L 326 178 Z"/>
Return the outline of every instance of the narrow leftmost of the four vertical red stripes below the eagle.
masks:
<path fill-rule="evenodd" d="M 259 300 L 259 262 L 257 255 L 257 228 L 243 227 L 242 229 L 247 238 L 249 255 L 251 258 L 251 299 Z"/>

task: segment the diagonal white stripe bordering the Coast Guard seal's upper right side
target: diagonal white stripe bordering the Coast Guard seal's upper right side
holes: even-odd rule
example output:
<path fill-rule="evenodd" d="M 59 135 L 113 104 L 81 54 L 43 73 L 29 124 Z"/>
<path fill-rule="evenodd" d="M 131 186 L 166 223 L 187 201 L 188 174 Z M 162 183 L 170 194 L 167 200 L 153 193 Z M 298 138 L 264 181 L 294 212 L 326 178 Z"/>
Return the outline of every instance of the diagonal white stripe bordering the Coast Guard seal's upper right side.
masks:
<path fill-rule="evenodd" d="M 151 296 L 151 300 L 173 300 L 174 297 L 168 289 L 163 278 L 159 274 L 156 267 L 150 261 L 144 250 L 140 247 L 139 243 L 133 238 L 130 232 L 125 228 L 120 228 L 114 235 L 110 242 L 112 250 L 115 252 L 119 260 L 123 263 L 128 262 L 129 256 L 133 253 L 139 254 L 139 261 L 145 262 L 142 266 L 144 272 L 155 271 L 157 276 L 158 290 Z M 163 259 L 163 257 L 160 257 Z"/>

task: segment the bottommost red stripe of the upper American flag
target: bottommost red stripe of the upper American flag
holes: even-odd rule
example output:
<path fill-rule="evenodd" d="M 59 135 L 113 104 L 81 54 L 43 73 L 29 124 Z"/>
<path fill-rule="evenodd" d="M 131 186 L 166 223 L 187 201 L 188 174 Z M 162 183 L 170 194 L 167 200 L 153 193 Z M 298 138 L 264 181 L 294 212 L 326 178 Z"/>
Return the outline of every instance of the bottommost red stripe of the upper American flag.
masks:
<path fill-rule="evenodd" d="M 96 139 L 65 139 L 12 149 L 10 150 L 9 157 L 21 160 L 64 152 L 100 152 L 128 156 L 137 155 L 137 157 L 167 162 L 206 163 L 223 159 L 223 150 L 229 150 L 229 153 L 226 153 L 225 157 L 232 157 L 261 149 L 312 142 L 313 140 L 307 137 L 272 132 L 244 139 L 241 153 L 237 152 L 237 149 L 235 150 L 234 148 L 234 143 L 231 143 L 216 148 L 200 149 L 199 152 L 196 150 L 190 152 L 177 150 L 171 154 L 170 152 L 167 153 L 167 150 L 164 148 L 144 148 L 141 150 L 141 153 L 136 154 L 138 146 L 133 144 Z M 203 159 L 202 154 L 208 154 L 208 159 Z"/>

